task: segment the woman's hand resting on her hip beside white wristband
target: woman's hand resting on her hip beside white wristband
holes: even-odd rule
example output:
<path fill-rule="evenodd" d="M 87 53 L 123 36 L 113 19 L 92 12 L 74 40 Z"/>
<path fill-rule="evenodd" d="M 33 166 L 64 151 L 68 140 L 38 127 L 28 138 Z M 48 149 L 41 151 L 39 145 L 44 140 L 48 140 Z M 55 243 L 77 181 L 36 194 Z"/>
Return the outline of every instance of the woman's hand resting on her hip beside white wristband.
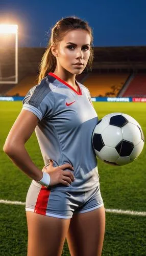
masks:
<path fill-rule="evenodd" d="M 50 186 L 59 183 L 69 186 L 69 184 L 71 184 L 72 181 L 75 180 L 75 178 L 74 174 L 72 174 L 69 170 L 65 169 L 71 169 L 72 171 L 74 170 L 72 165 L 69 163 L 53 167 L 53 160 L 50 159 L 50 164 L 48 166 L 44 166 L 42 172 L 48 173 L 50 175 Z"/>

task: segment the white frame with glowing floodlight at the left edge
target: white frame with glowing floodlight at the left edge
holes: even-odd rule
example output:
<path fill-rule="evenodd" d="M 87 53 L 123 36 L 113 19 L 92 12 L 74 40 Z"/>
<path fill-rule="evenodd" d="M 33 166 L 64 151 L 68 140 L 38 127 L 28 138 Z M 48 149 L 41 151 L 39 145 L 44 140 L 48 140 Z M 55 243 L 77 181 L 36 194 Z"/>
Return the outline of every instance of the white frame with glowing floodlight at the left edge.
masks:
<path fill-rule="evenodd" d="M 15 81 L 0 83 L 18 83 L 18 25 L 0 24 L 0 34 L 15 34 Z"/>

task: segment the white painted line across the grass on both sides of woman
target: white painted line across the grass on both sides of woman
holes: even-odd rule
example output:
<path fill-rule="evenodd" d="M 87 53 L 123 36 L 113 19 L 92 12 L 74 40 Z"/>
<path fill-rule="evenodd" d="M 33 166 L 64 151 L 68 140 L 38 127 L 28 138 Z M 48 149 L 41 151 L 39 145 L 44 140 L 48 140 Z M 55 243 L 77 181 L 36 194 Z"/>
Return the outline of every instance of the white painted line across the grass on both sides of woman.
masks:
<path fill-rule="evenodd" d="M 20 201 L 8 201 L 0 200 L 0 204 L 15 204 L 15 205 L 26 205 L 25 202 Z M 127 215 L 136 215 L 136 216 L 146 216 L 146 211 L 131 211 L 131 210 L 121 210 L 121 209 L 106 209 L 106 212 L 112 214 L 127 214 Z"/>

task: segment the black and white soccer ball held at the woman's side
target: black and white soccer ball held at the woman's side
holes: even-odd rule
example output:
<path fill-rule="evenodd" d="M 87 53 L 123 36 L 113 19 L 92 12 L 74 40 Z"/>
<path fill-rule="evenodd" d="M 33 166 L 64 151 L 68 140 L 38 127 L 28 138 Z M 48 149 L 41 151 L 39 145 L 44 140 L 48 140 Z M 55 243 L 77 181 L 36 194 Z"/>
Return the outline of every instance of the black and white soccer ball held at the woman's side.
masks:
<path fill-rule="evenodd" d="M 133 117 L 112 113 L 104 116 L 95 126 L 92 144 L 96 156 L 105 163 L 125 165 L 140 155 L 144 135 Z"/>

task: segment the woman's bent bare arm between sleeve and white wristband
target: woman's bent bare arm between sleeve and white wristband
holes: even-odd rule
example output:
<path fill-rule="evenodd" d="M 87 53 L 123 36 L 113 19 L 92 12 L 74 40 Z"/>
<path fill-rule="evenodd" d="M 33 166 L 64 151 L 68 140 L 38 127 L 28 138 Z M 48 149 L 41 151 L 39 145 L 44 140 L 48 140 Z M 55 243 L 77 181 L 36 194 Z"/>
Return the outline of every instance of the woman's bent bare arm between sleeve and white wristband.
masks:
<path fill-rule="evenodd" d="M 35 181 L 42 179 L 42 172 L 31 160 L 25 143 L 31 137 L 39 119 L 32 112 L 22 110 L 14 122 L 3 147 L 4 152 L 24 173 Z"/>

